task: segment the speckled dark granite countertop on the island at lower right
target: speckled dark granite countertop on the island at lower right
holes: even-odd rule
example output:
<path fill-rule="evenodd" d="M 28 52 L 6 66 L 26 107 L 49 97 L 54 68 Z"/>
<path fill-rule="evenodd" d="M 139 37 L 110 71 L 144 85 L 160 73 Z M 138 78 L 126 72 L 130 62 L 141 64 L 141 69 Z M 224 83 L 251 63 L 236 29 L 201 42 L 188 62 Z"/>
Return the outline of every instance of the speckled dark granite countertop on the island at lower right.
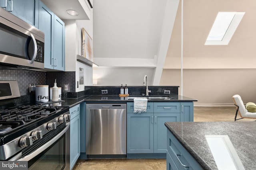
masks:
<path fill-rule="evenodd" d="M 205 135 L 228 135 L 246 170 L 256 169 L 256 122 L 166 122 L 165 126 L 206 170 L 218 170 Z"/>

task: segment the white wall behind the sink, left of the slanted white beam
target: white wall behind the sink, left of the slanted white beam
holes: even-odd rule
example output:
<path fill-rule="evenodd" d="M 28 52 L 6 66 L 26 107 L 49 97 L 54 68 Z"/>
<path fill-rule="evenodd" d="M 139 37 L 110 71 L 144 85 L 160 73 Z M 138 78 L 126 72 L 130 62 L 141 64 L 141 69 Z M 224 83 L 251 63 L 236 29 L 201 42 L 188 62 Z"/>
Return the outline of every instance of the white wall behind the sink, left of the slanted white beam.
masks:
<path fill-rule="evenodd" d="M 100 86 L 152 85 L 167 0 L 94 0 L 93 78 Z"/>

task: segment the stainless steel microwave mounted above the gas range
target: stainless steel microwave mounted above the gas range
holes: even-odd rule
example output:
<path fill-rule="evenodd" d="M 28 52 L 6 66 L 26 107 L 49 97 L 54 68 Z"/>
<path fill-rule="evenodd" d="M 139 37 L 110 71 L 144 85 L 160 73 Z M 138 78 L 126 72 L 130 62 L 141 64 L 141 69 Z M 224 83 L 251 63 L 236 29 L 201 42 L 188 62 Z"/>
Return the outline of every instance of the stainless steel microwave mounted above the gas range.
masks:
<path fill-rule="evenodd" d="M 2 8 L 0 68 L 44 68 L 44 33 Z"/>

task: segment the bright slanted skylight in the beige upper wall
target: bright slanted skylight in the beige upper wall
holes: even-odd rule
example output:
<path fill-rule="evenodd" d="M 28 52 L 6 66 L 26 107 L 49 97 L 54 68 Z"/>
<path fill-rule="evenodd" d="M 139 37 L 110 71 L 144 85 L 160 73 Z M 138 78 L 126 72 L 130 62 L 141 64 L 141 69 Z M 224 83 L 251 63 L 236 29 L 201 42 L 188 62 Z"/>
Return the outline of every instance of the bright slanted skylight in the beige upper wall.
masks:
<path fill-rule="evenodd" d="M 218 12 L 204 45 L 228 45 L 245 12 Z"/>

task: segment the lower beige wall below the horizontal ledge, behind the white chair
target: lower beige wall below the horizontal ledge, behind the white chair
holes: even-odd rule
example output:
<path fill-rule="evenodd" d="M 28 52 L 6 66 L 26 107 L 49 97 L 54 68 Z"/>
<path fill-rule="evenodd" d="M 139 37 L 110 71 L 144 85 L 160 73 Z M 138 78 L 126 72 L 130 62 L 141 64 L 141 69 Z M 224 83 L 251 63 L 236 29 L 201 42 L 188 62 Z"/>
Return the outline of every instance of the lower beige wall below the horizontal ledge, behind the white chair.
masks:
<path fill-rule="evenodd" d="M 195 106 L 234 106 L 235 94 L 256 103 L 255 74 L 256 69 L 184 69 L 183 96 L 197 99 Z M 160 84 L 180 86 L 180 69 L 164 69 Z"/>

